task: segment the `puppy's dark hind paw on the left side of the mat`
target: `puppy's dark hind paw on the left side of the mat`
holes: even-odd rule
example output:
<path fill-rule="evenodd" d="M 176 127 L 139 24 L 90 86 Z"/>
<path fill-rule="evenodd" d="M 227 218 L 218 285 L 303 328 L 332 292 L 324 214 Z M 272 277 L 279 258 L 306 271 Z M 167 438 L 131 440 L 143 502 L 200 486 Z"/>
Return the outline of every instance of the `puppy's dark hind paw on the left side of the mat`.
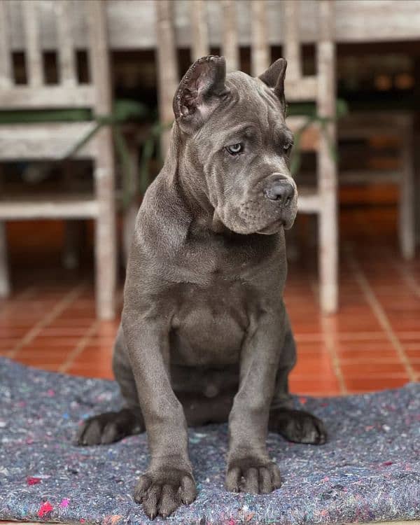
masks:
<path fill-rule="evenodd" d="M 90 417 L 83 423 L 77 437 L 77 444 L 109 444 L 122 440 L 127 435 L 144 432 L 143 421 L 129 409 L 120 412 L 105 412 Z"/>

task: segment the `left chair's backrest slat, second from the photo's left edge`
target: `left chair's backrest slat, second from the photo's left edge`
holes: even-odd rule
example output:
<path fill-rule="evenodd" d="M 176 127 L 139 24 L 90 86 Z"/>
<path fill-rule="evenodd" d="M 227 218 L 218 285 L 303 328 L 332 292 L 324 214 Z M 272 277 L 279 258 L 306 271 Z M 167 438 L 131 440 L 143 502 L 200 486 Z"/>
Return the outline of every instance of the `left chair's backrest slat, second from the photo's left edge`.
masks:
<path fill-rule="evenodd" d="M 23 0 L 23 23 L 25 27 L 25 51 L 28 83 L 31 87 L 43 84 L 43 58 L 39 38 L 38 2 Z"/>

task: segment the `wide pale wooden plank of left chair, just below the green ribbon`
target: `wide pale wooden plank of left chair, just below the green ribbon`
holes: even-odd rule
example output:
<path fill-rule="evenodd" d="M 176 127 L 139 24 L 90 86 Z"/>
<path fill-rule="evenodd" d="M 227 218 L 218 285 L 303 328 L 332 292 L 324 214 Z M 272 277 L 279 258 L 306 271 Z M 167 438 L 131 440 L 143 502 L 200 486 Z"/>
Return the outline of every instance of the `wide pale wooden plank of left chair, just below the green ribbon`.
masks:
<path fill-rule="evenodd" d="M 0 125 L 0 160 L 60 160 L 93 130 L 94 122 Z M 94 158 L 96 141 L 90 140 L 75 158 Z"/>

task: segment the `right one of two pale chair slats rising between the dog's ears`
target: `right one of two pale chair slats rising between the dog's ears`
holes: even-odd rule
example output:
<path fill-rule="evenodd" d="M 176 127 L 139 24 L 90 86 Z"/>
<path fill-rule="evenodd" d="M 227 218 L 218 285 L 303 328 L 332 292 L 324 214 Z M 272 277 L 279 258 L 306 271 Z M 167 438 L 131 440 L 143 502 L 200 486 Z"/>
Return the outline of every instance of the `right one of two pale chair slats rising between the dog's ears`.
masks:
<path fill-rule="evenodd" d="M 265 0 L 251 1 L 251 74 L 258 76 L 270 64 Z"/>

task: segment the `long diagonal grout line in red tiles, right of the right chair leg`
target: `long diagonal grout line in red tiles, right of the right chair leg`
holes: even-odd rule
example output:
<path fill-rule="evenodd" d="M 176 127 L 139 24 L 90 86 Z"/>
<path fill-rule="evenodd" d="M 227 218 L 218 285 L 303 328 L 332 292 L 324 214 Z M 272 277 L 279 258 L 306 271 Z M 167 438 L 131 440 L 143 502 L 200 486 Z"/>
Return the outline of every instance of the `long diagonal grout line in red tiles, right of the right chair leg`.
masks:
<path fill-rule="evenodd" d="M 346 250 L 346 256 L 350 267 L 353 269 L 354 276 L 356 278 L 356 281 L 358 282 L 358 285 L 360 286 L 360 289 L 363 291 L 367 302 L 370 304 L 372 311 L 374 312 L 375 316 L 377 317 L 377 320 L 379 321 L 379 324 L 382 326 L 382 328 L 384 328 L 384 331 L 386 332 L 388 339 L 393 344 L 395 351 L 397 351 L 402 364 L 405 366 L 405 370 L 407 370 L 407 374 L 410 381 L 415 381 L 416 373 L 414 372 L 414 369 L 411 363 L 409 362 L 409 359 L 400 342 L 400 339 L 398 339 L 397 335 L 395 335 L 395 332 L 393 331 L 391 323 L 389 322 L 384 309 L 382 308 L 380 302 L 377 300 L 376 295 L 374 295 L 374 291 L 372 290 L 369 281 L 367 281 L 367 278 L 363 273 L 363 270 L 360 267 L 358 261 L 354 257 L 351 249 Z"/>

